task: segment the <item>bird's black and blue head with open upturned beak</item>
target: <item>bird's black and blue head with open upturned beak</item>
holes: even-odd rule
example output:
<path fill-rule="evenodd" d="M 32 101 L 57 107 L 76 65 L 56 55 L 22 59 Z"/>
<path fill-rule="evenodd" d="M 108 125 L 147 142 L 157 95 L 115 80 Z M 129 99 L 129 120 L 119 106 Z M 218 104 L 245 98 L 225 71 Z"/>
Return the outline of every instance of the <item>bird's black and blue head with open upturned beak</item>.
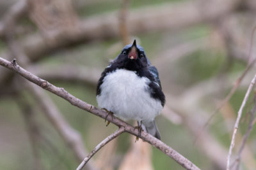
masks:
<path fill-rule="evenodd" d="M 113 63 L 114 64 L 114 63 Z M 136 45 L 136 41 L 132 45 L 127 45 L 115 60 L 115 64 L 132 71 L 138 71 L 148 66 L 148 59 L 141 46 Z"/>

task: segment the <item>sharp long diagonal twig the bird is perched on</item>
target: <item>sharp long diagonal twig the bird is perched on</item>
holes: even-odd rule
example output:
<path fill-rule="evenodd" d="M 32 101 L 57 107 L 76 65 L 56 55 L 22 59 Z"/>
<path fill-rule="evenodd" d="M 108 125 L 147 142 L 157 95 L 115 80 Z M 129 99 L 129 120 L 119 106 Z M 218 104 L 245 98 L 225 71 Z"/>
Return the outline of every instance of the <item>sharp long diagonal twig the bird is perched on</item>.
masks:
<path fill-rule="evenodd" d="M 101 117 L 101 118 L 106 118 L 106 116 L 108 115 L 108 113 L 106 113 L 105 111 L 102 111 L 102 110 L 96 108 L 95 106 L 85 103 L 84 101 L 81 101 L 80 99 L 77 99 L 76 97 L 72 96 L 72 94 L 69 94 L 65 89 L 56 87 L 56 86 L 52 85 L 51 83 L 49 83 L 45 80 L 42 80 L 41 78 L 38 78 L 34 74 L 29 73 L 28 71 L 26 71 L 26 69 L 23 69 L 22 67 L 20 67 L 17 64 L 17 62 L 13 62 L 13 61 L 9 62 L 8 60 L 5 60 L 0 57 L 0 65 L 6 67 L 8 69 L 11 69 L 12 71 L 15 71 L 16 73 L 20 74 L 27 80 L 35 83 L 36 85 L 42 87 L 45 90 L 48 90 L 49 92 L 52 92 L 53 94 L 56 94 L 57 96 L 62 97 L 63 99 L 67 100 L 72 105 L 77 106 L 78 108 L 81 108 L 90 113 L 93 113 L 94 115 L 97 115 L 98 117 Z M 109 122 L 112 122 L 113 124 L 117 125 L 118 127 L 124 127 L 125 132 L 129 132 L 130 134 L 139 136 L 141 139 L 143 139 L 144 141 L 147 141 L 151 145 L 153 145 L 156 148 L 158 148 L 159 150 L 161 150 L 161 152 L 168 155 L 168 157 L 175 160 L 178 164 L 180 164 L 180 166 L 182 166 L 186 169 L 199 169 L 190 160 L 188 160 L 185 157 L 183 157 L 182 155 L 180 155 L 179 152 L 173 150 L 173 148 L 166 145 L 159 139 L 154 138 L 154 136 L 151 136 L 147 132 L 143 131 L 140 134 L 138 129 L 134 129 L 134 127 L 132 127 L 131 125 L 127 124 L 126 122 L 124 122 L 114 116 L 109 116 L 109 117 L 107 117 L 106 120 L 108 120 Z"/>

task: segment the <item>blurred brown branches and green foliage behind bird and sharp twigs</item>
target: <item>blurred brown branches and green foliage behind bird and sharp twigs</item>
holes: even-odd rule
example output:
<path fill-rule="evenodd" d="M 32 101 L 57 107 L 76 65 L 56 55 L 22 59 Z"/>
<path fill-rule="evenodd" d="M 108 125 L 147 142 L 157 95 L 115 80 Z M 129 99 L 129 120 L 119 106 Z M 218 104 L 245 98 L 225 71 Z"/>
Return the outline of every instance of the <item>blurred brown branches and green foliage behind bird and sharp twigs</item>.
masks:
<path fill-rule="evenodd" d="M 248 55 L 255 15 L 254 0 L 1 0 L 0 57 L 97 106 L 100 73 L 136 39 L 166 95 L 156 118 L 163 142 L 201 169 L 225 169 L 237 111 L 255 74 L 255 50 Z M 232 169 L 256 169 L 254 95 Z M 76 169 L 116 129 L 0 67 L 0 169 Z M 134 141 L 122 134 L 84 169 L 183 169 Z"/>

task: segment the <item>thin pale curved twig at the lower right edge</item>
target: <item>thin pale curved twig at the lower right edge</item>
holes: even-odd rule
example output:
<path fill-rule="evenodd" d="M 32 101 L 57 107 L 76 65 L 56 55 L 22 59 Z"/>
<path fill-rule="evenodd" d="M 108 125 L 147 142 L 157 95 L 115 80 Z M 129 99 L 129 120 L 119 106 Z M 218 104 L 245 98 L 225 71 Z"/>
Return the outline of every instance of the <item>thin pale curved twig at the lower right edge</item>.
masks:
<path fill-rule="evenodd" d="M 232 155 L 232 149 L 235 146 L 236 132 L 237 132 L 237 129 L 238 129 L 238 125 L 239 125 L 242 113 L 243 113 L 243 108 L 244 108 L 246 102 L 248 101 L 248 98 L 250 96 L 250 92 L 252 91 L 252 89 L 253 89 L 253 87 L 255 85 L 255 82 L 256 82 L 256 74 L 253 77 L 253 79 L 252 79 L 252 81 L 250 83 L 250 86 L 248 87 L 248 90 L 247 90 L 247 92 L 246 92 L 246 94 L 244 96 L 244 99 L 243 99 L 243 102 L 241 104 L 241 107 L 240 107 L 240 109 L 238 111 L 238 115 L 237 115 L 237 119 L 236 119 L 236 124 L 234 125 L 234 131 L 233 131 L 232 140 L 231 140 L 231 143 L 230 143 L 230 148 L 229 148 L 229 151 L 228 151 L 227 170 L 230 169 L 230 159 L 231 159 L 231 155 Z"/>

